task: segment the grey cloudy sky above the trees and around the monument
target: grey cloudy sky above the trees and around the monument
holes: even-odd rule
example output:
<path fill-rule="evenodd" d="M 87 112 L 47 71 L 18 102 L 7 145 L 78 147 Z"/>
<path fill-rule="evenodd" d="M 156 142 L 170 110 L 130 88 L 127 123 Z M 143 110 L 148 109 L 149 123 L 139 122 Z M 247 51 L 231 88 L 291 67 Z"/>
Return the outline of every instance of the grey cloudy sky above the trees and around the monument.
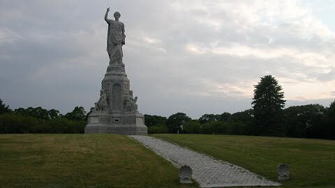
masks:
<path fill-rule="evenodd" d="M 0 0 L 0 98 L 12 109 L 93 107 L 109 61 L 108 6 L 125 24 L 141 113 L 243 111 L 265 75 L 283 86 L 286 107 L 334 101 L 333 0 Z"/>

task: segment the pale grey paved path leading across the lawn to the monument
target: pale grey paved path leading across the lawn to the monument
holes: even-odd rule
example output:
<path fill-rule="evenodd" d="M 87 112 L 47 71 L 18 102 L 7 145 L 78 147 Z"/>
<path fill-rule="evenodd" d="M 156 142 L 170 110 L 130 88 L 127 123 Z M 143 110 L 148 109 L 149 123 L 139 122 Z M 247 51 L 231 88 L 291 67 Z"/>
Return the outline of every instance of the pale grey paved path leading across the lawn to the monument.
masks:
<path fill-rule="evenodd" d="M 191 166 L 192 178 L 199 183 L 200 187 L 281 185 L 234 164 L 213 159 L 208 155 L 182 148 L 161 139 L 139 135 L 131 135 L 130 137 L 168 159 L 177 168 L 184 164 Z"/>

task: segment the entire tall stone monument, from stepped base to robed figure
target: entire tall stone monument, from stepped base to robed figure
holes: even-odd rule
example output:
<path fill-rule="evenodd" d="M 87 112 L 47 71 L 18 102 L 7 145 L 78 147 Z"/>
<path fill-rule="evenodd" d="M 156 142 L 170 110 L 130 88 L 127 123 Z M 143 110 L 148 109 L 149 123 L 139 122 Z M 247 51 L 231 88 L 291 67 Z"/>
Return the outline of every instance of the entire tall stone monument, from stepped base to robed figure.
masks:
<path fill-rule="evenodd" d="M 86 133 L 147 134 L 144 116 L 137 111 L 137 97 L 133 97 L 130 82 L 122 61 L 122 46 L 126 44 L 124 23 L 121 14 L 114 13 L 115 20 L 108 19 L 110 8 L 105 13 L 108 24 L 107 53 L 110 63 L 101 83 L 100 99 L 88 118 Z"/>

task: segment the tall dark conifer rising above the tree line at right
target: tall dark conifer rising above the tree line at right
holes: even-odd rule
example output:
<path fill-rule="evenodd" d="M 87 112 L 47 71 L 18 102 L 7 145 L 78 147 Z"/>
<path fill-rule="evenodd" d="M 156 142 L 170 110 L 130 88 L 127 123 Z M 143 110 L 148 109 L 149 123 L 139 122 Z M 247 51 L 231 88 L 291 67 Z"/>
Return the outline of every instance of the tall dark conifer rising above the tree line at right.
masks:
<path fill-rule="evenodd" d="M 260 79 L 253 94 L 255 134 L 264 136 L 284 136 L 283 107 L 285 100 L 283 88 L 271 75 Z"/>

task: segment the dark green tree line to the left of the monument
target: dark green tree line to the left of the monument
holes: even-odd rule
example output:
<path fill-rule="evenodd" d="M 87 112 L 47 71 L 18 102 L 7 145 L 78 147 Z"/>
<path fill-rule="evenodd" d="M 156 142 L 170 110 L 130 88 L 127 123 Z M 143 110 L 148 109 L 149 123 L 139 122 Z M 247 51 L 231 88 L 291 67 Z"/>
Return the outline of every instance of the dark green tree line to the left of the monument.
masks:
<path fill-rule="evenodd" d="M 84 133 L 88 114 L 83 107 L 62 115 L 42 107 L 12 110 L 0 99 L 0 133 Z"/>

